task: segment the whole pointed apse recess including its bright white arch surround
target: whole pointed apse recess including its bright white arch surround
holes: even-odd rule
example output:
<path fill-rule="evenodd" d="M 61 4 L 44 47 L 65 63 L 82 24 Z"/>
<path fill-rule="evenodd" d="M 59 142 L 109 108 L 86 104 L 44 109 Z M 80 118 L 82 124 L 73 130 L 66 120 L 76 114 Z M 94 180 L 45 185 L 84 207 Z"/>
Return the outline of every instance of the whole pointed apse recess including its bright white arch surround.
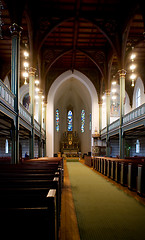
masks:
<path fill-rule="evenodd" d="M 70 70 L 61 74 L 52 84 L 48 97 L 47 97 L 47 117 L 46 117 L 46 154 L 47 156 L 53 156 L 59 149 L 59 141 L 61 134 L 66 130 L 67 123 L 65 114 L 69 106 L 73 107 L 74 114 L 74 130 L 81 132 L 80 124 L 81 115 L 79 121 L 79 112 L 81 109 L 85 109 L 87 113 L 87 121 L 91 121 L 91 130 L 84 132 L 84 135 L 79 135 L 81 138 L 81 150 L 82 152 L 88 152 L 91 150 L 91 134 L 95 129 L 99 128 L 99 109 L 98 109 L 98 96 L 96 89 L 92 82 L 81 72 L 75 70 L 72 73 Z M 55 110 L 60 108 L 63 116 L 63 129 L 58 133 L 55 131 Z M 64 110 L 64 111 L 63 111 Z M 81 114 L 81 113 L 80 113 Z M 61 123 L 60 123 L 61 124 Z M 87 123 L 89 126 L 89 124 Z M 61 127 L 60 127 L 61 129 Z M 89 132 L 90 131 L 90 132 Z M 57 134 L 57 137 L 56 137 Z M 85 135 L 86 134 L 86 135 Z M 90 137 L 88 137 L 90 136 Z M 88 140 L 86 140 L 88 139 Z M 88 142 L 87 142 L 88 141 Z M 86 147 L 88 146 L 88 147 Z"/>

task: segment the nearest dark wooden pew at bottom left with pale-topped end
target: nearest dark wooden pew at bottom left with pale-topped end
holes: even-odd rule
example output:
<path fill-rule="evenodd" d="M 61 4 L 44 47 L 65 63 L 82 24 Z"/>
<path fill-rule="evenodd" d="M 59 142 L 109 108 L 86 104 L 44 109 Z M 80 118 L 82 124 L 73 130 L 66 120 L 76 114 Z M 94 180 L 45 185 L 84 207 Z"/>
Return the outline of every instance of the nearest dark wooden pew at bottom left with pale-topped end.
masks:
<path fill-rule="evenodd" d="M 25 190 L 25 193 L 22 190 L 16 192 L 17 195 L 15 193 L 13 200 L 17 200 L 17 204 L 12 206 L 9 193 L 7 205 L 5 203 L 3 207 L 0 207 L 1 234 L 3 233 L 5 237 L 15 237 L 15 239 L 18 239 L 16 238 L 17 234 L 21 234 L 19 239 L 24 236 L 34 239 L 41 235 L 41 239 L 58 240 L 56 190 L 49 190 L 47 194 L 45 192 L 45 204 L 41 199 L 37 199 L 36 189 L 35 194 L 33 191 L 28 194 L 28 190 Z M 20 193 L 21 198 L 19 197 Z M 32 193 L 34 194 L 33 201 L 30 201 Z M 38 191 L 38 198 L 39 195 L 40 191 Z M 3 200 L 6 200 L 6 197 Z"/>

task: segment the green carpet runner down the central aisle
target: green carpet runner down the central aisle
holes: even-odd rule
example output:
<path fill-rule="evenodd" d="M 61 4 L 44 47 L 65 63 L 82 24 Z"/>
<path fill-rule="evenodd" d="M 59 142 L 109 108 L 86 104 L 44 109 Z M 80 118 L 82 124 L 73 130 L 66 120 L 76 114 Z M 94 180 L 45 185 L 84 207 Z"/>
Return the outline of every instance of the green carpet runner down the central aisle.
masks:
<path fill-rule="evenodd" d="M 79 162 L 67 163 L 81 240 L 144 240 L 145 206 Z"/>

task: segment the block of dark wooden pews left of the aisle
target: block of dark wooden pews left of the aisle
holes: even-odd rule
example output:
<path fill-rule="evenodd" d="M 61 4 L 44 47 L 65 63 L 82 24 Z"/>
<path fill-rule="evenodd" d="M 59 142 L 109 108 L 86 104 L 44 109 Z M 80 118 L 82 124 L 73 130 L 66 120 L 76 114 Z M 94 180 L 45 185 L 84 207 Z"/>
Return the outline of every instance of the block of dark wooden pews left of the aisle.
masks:
<path fill-rule="evenodd" d="M 0 214 L 9 218 L 9 227 L 29 223 L 32 228 L 37 228 L 38 225 L 44 237 L 58 239 L 61 167 L 51 159 L 49 163 L 37 160 L 0 168 L 0 206 L 3 206 Z M 27 235 L 30 235 L 29 231 Z"/>

